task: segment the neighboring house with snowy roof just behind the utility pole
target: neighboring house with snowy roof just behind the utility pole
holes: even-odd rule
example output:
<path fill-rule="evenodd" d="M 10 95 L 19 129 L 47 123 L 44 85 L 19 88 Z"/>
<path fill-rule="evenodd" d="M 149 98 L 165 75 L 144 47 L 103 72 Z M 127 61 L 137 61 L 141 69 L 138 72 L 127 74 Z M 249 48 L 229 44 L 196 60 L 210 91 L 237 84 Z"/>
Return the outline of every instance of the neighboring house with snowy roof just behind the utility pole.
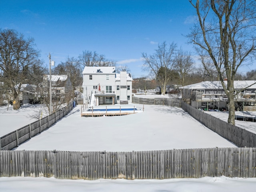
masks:
<path fill-rule="evenodd" d="M 72 96 L 73 87 L 70 81 L 70 78 L 67 75 L 51 75 L 52 80 L 52 96 L 60 98 L 63 96 Z M 50 82 L 50 75 L 44 75 L 43 84 L 48 86 Z"/>

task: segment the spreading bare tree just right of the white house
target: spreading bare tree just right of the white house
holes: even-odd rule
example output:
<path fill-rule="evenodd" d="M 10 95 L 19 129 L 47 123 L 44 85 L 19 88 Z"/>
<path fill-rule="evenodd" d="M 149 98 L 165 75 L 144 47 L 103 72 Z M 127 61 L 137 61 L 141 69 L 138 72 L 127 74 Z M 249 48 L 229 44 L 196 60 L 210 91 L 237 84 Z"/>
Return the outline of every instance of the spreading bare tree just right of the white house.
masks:
<path fill-rule="evenodd" d="M 167 46 L 166 42 L 158 45 L 158 49 L 152 55 L 142 53 L 144 58 L 143 70 L 149 72 L 151 75 L 156 76 L 159 82 L 162 84 L 162 94 L 166 92 L 166 84 L 170 80 L 170 71 L 174 68 L 176 44 Z M 159 73 L 160 71 L 160 73 Z M 161 74 L 161 77 L 159 76 Z"/>

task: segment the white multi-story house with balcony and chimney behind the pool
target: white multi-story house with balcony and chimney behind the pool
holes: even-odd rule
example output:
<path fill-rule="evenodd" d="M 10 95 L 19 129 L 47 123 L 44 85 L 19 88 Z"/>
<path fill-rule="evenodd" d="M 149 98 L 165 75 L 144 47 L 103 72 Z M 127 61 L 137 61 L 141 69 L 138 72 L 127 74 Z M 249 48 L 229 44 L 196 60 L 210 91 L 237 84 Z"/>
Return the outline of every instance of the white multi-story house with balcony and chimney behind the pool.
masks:
<path fill-rule="evenodd" d="M 124 104 L 132 101 L 132 76 L 116 74 L 115 67 L 85 67 L 83 74 L 84 103 Z"/>

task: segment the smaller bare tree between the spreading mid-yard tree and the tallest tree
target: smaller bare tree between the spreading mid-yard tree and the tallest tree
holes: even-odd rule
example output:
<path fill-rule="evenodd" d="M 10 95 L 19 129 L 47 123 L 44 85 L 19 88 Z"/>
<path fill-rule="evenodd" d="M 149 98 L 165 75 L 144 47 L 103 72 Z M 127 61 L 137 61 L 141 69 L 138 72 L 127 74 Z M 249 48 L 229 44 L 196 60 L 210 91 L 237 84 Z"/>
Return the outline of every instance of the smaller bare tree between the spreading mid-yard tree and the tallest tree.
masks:
<path fill-rule="evenodd" d="M 186 77 L 192 70 L 194 70 L 194 60 L 191 56 L 191 53 L 184 51 L 180 48 L 175 57 L 175 66 L 174 68 L 180 75 L 180 82 L 182 86 L 186 85 Z"/>

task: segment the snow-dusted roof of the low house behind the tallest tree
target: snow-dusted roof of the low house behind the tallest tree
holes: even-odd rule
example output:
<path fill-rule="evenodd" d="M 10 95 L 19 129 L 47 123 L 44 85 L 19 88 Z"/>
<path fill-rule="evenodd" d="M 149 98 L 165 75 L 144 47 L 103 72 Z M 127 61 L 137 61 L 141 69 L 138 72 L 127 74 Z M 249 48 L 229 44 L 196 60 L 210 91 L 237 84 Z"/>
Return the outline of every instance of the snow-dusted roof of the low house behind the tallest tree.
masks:
<path fill-rule="evenodd" d="M 225 81 L 227 84 L 228 82 Z M 251 85 L 251 86 L 250 86 Z M 256 80 L 250 81 L 234 81 L 235 89 L 242 89 L 250 86 L 250 89 L 256 89 Z M 204 81 L 192 85 L 180 87 L 180 89 L 223 89 L 220 81 Z"/>

